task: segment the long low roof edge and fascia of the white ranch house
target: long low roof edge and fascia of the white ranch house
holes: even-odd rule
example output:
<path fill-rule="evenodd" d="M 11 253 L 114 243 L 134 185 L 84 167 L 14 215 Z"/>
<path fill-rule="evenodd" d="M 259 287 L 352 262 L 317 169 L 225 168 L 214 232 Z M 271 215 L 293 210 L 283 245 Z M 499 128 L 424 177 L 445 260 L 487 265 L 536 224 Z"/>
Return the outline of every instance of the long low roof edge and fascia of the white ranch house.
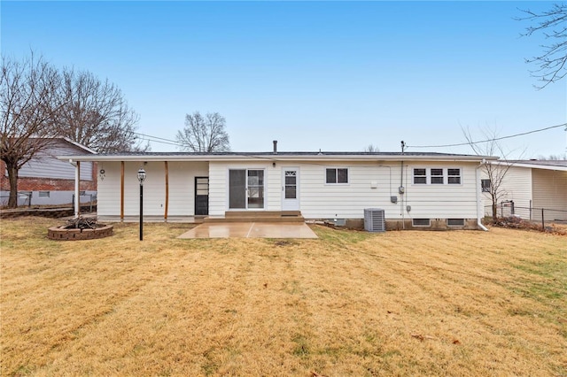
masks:
<path fill-rule="evenodd" d="M 209 160 L 422 160 L 422 161 L 470 161 L 496 160 L 493 156 L 459 155 L 423 152 L 123 152 L 92 155 L 58 156 L 74 161 L 209 161 Z"/>

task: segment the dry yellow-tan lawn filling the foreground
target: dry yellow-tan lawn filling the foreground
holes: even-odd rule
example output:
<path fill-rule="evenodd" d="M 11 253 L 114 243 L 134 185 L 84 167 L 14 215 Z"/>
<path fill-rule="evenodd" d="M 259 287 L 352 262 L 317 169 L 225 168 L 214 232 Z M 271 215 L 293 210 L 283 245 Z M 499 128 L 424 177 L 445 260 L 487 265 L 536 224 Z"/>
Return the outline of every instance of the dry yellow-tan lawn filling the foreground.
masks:
<path fill-rule="evenodd" d="M 567 237 L 2 220 L 2 375 L 567 375 Z"/>

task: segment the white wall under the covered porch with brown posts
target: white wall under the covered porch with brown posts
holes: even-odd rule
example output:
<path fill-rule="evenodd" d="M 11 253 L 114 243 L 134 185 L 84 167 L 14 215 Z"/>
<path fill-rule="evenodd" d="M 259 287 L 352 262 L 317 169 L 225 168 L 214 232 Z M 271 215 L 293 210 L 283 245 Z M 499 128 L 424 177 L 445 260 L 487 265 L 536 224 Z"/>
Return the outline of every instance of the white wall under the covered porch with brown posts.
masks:
<path fill-rule="evenodd" d="M 144 214 L 164 216 L 166 205 L 166 178 L 164 162 L 124 164 L 124 215 L 137 215 L 140 211 L 140 185 L 137 171 L 144 167 Z M 105 162 L 105 179 L 98 178 L 97 212 L 101 216 L 120 215 L 120 162 Z M 195 177 L 207 176 L 206 163 L 168 162 L 169 208 L 168 216 L 193 215 L 195 206 Z"/>

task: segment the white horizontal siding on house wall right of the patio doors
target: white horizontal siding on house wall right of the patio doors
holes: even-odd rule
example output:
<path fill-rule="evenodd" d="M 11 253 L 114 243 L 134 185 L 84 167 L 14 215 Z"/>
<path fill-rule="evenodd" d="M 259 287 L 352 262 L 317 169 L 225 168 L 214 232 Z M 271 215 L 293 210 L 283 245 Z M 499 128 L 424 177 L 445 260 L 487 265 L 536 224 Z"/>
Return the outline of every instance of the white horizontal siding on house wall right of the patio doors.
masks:
<path fill-rule="evenodd" d="M 342 163 L 334 165 L 301 164 L 300 208 L 307 219 L 362 219 L 365 208 L 382 208 L 386 219 L 476 218 L 475 165 L 434 164 L 420 167 L 458 167 L 461 185 L 413 185 L 413 165 L 404 165 L 402 196 L 401 165 Z M 327 167 L 346 167 L 348 184 L 326 184 Z M 377 187 L 373 188 L 373 182 Z M 391 196 L 397 196 L 393 204 Z M 407 211 L 407 206 L 411 206 Z"/>

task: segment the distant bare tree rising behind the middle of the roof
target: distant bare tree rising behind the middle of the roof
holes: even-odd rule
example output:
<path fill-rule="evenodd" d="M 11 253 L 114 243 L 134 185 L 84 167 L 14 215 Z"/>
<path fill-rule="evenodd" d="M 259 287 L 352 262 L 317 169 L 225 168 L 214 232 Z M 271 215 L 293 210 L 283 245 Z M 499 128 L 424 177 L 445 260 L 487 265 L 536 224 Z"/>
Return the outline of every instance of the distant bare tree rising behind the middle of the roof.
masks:
<path fill-rule="evenodd" d="M 185 127 L 177 131 L 177 142 L 181 150 L 192 152 L 224 152 L 230 150 L 226 120 L 218 112 L 209 112 L 203 117 L 199 112 L 185 115 Z"/>

